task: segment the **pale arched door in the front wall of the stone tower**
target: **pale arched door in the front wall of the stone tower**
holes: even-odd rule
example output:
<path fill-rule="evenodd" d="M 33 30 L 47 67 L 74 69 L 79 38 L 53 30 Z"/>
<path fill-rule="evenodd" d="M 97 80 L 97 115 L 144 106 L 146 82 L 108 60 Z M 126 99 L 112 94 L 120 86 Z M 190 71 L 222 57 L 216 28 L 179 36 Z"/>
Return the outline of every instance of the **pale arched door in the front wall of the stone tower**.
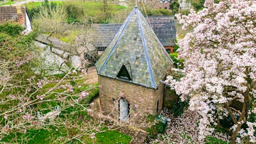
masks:
<path fill-rule="evenodd" d="M 124 98 L 119 100 L 119 119 L 121 121 L 129 120 L 129 102 Z"/>

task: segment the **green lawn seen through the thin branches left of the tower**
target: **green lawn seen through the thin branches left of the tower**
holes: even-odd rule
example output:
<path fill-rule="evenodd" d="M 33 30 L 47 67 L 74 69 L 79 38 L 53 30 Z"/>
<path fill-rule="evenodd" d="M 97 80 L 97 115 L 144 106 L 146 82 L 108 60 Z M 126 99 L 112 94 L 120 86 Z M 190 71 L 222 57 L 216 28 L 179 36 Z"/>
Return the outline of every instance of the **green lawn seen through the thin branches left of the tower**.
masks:
<path fill-rule="evenodd" d="M 79 84 L 83 81 L 74 81 L 73 84 Z M 56 83 L 49 83 L 46 84 L 42 90 L 47 91 L 49 88 L 52 88 Z M 63 83 L 64 84 L 64 83 Z M 54 92 L 61 92 L 63 91 L 62 89 L 56 89 Z M 98 90 L 98 84 L 90 84 L 90 85 L 84 85 L 81 86 L 80 88 L 74 89 L 74 93 L 79 93 L 81 91 L 88 91 L 90 92 L 90 95 L 86 97 L 82 101 L 84 104 L 89 104 L 95 97 L 97 97 L 97 93 L 99 92 Z M 51 97 L 54 97 L 52 95 Z M 42 104 L 38 105 L 38 111 L 41 111 L 42 113 L 47 113 L 49 112 L 49 107 L 50 106 L 57 106 L 58 102 L 44 102 Z M 41 109 L 41 110 L 40 110 Z M 45 110 L 42 110 L 45 109 Z M 58 118 L 58 120 L 61 119 L 70 119 L 72 118 L 74 120 L 74 124 L 70 125 L 84 125 L 86 122 L 89 122 L 91 120 L 90 116 L 88 115 L 86 109 L 81 109 L 79 106 L 74 106 L 70 107 L 67 109 L 63 109 L 61 111 L 61 114 Z M 102 125 L 102 128 L 100 128 L 100 131 L 106 130 L 106 127 Z M 96 132 L 96 131 L 95 131 Z M 6 143 L 28 143 L 28 144 L 33 144 L 33 143 L 45 143 L 45 144 L 50 144 L 50 143 L 61 143 L 61 138 L 65 138 L 68 136 L 70 138 L 70 135 L 76 135 L 81 133 L 81 130 L 78 130 L 77 128 L 71 127 L 56 127 L 54 125 L 49 125 L 45 126 L 44 128 L 39 128 L 39 129 L 30 129 L 27 130 L 26 132 L 19 132 L 17 134 L 9 134 L 8 136 L 4 136 L 1 142 L 6 142 Z M 85 143 L 98 143 L 98 144 L 110 144 L 110 143 L 129 143 L 131 141 L 132 137 L 128 136 L 126 134 L 122 134 L 121 132 L 118 131 L 105 131 L 101 132 L 98 134 L 95 134 L 95 138 L 91 139 L 90 136 L 84 135 L 79 140 L 85 142 Z M 81 143 L 78 140 L 72 140 L 68 141 L 68 143 Z"/>

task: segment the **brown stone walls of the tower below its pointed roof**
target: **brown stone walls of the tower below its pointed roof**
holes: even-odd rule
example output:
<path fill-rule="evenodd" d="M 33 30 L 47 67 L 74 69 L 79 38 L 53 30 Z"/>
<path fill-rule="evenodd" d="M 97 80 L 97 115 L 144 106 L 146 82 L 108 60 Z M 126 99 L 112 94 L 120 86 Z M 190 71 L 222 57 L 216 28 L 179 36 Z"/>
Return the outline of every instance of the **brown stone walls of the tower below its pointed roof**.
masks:
<path fill-rule="evenodd" d="M 99 76 L 98 79 L 100 105 L 104 115 L 110 115 L 118 120 L 120 93 L 124 93 L 125 99 L 130 104 L 130 124 L 143 124 L 147 120 L 146 114 L 156 115 L 158 99 L 159 109 L 163 107 L 163 84 L 160 84 L 159 89 L 154 90 L 104 76 Z"/>

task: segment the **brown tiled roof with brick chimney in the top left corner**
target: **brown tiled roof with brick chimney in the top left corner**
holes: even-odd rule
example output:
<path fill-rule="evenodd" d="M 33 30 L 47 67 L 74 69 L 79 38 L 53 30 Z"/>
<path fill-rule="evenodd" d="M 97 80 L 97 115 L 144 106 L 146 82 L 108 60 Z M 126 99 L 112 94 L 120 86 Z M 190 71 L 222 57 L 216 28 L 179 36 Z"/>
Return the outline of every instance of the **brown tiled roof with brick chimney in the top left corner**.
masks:
<path fill-rule="evenodd" d="M 0 24 L 6 21 L 19 22 L 26 26 L 26 6 L 0 6 Z"/>

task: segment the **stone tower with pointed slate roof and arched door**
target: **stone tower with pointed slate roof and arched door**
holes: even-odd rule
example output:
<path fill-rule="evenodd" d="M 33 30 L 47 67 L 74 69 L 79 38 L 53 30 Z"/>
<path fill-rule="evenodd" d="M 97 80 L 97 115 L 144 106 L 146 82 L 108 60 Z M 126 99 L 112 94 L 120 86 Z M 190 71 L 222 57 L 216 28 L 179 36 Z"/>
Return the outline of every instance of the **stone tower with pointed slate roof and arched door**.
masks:
<path fill-rule="evenodd" d="M 104 115 L 141 124 L 161 112 L 161 81 L 173 61 L 137 6 L 95 65 Z"/>

